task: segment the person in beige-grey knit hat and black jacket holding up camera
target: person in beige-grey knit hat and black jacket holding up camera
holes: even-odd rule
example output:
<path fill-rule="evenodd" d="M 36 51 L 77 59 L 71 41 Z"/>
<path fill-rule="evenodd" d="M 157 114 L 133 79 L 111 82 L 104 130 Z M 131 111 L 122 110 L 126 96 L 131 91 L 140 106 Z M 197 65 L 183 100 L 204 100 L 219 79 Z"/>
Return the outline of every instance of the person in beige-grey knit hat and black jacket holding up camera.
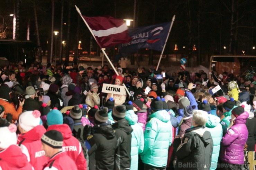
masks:
<path fill-rule="evenodd" d="M 40 106 L 43 104 L 43 94 L 39 91 L 35 91 L 34 87 L 28 86 L 25 91 L 25 104 L 23 106 L 23 111 L 39 110 Z M 38 96 L 39 95 L 39 96 Z M 38 101 L 35 100 L 38 97 Z"/>

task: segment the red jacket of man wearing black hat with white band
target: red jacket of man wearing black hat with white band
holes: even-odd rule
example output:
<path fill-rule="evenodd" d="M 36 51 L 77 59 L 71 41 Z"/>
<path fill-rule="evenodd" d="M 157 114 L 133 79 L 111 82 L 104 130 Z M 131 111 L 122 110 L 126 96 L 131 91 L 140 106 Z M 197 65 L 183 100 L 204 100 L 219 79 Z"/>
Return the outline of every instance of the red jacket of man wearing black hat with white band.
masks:
<path fill-rule="evenodd" d="M 43 170 L 77 170 L 75 162 L 67 156 L 67 152 L 58 152 L 50 158 L 43 167 Z"/>

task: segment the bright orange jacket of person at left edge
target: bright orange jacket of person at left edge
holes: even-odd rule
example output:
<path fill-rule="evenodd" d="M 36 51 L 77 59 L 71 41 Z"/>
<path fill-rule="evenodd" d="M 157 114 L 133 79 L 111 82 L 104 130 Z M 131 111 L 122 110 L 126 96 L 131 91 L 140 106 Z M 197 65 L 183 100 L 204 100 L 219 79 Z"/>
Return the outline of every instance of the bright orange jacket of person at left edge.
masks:
<path fill-rule="evenodd" d="M 19 106 L 17 111 L 15 110 L 15 107 L 13 106 L 12 103 L 9 103 L 8 101 L 6 101 L 5 99 L 1 99 L 0 98 L 0 105 L 2 105 L 4 107 L 4 115 L 3 118 L 6 118 L 6 114 L 7 113 L 11 113 L 12 114 L 12 120 L 13 122 L 15 120 L 18 120 L 20 113 L 22 112 L 23 107 Z"/>

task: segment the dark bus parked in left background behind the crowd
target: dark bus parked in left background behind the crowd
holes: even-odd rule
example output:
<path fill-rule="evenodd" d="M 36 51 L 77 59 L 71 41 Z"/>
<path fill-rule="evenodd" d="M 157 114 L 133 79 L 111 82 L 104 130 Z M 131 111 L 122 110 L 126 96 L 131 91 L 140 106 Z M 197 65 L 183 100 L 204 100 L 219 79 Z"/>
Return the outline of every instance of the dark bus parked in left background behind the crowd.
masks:
<path fill-rule="evenodd" d="M 26 67 L 36 61 L 39 46 L 27 40 L 0 39 L 0 67 L 23 62 Z"/>

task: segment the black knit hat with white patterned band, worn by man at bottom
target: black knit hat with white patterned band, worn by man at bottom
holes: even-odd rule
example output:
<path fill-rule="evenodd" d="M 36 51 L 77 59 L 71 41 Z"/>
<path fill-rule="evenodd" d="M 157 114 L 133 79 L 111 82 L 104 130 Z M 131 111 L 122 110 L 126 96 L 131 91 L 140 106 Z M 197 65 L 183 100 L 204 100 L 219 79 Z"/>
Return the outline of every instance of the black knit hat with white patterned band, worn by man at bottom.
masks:
<path fill-rule="evenodd" d="M 63 136 L 57 130 L 49 130 L 43 134 L 41 141 L 52 148 L 62 149 Z"/>

